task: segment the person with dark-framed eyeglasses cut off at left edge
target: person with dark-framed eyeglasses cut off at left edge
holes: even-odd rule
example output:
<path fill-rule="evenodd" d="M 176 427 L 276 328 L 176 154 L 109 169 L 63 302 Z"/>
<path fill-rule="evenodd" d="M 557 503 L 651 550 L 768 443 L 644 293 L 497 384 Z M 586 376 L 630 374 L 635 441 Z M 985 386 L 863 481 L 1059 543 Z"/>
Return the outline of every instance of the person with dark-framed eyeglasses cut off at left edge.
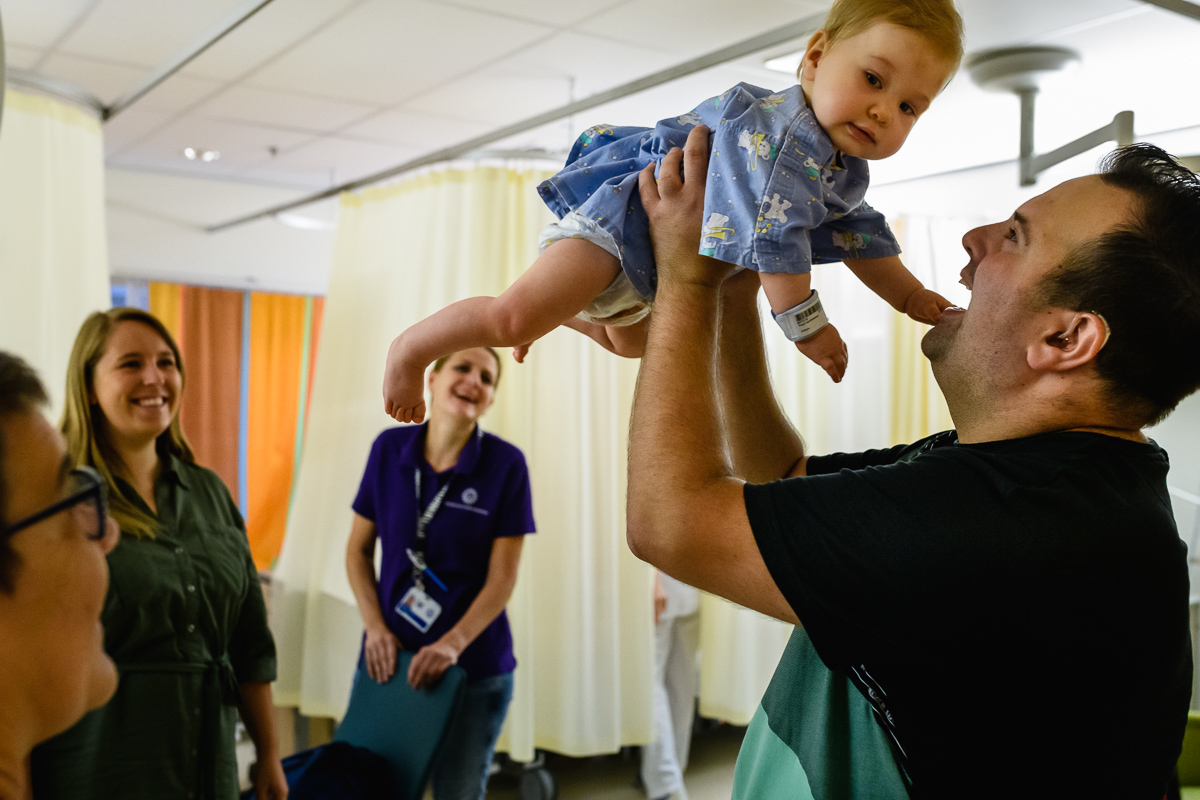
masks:
<path fill-rule="evenodd" d="M 28 798 L 29 753 L 116 688 L 100 610 L 116 545 L 106 487 L 71 469 L 46 390 L 0 353 L 0 798 Z"/>

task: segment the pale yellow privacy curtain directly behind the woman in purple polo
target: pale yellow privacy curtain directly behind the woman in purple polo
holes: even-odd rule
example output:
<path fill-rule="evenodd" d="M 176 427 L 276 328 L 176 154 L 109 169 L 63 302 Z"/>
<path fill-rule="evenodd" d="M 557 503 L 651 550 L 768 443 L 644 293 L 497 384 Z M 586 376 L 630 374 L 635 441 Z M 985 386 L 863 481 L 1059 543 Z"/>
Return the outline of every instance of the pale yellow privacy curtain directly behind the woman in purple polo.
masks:
<path fill-rule="evenodd" d="M 350 503 L 371 441 L 391 423 L 380 386 L 400 331 L 461 297 L 499 294 L 535 257 L 550 173 L 432 172 L 348 196 L 316 366 L 308 431 L 275 570 L 276 699 L 340 717 L 361 621 L 346 578 Z M 484 427 L 528 459 L 538 534 L 509 603 L 518 669 L 505 745 L 611 752 L 650 735 L 650 572 L 625 546 L 625 432 L 637 363 L 562 330 L 526 365 L 504 354 Z"/>

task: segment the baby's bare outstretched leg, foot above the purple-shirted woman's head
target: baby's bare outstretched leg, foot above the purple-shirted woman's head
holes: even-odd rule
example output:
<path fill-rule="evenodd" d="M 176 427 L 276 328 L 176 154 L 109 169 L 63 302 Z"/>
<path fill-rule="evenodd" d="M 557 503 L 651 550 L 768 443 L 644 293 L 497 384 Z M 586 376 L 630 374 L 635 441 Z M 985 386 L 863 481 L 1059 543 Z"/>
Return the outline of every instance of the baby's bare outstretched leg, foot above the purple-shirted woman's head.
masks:
<path fill-rule="evenodd" d="M 547 247 L 498 297 L 469 297 L 426 317 L 392 341 L 384 371 L 384 409 L 401 422 L 425 419 L 425 368 L 473 347 L 533 342 L 583 311 L 620 271 L 620 263 L 582 239 Z"/>

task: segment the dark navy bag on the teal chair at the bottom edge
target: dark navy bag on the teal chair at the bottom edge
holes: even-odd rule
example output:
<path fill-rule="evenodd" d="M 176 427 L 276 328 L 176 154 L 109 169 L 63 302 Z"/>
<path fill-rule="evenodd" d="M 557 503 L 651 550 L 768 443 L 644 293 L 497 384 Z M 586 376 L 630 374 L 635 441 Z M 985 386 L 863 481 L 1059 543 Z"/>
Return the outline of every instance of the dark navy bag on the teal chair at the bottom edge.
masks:
<path fill-rule="evenodd" d="M 288 800 L 391 800 L 396 788 L 383 757 L 334 741 L 283 759 Z M 257 800 L 253 789 L 242 800 Z"/>

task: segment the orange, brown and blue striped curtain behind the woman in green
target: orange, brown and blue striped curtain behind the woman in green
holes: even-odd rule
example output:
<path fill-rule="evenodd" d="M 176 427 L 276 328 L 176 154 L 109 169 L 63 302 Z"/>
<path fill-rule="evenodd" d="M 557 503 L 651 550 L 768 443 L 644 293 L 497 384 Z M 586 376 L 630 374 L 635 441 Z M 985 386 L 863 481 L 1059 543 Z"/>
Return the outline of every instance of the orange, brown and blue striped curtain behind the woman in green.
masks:
<path fill-rule="evenodd" d="M 144 307 L 179 341 L 184 432 L 236 498 L 254 564 L 270 569 L 287 529 L 324 299 L 173 283 L 116 283 L 113 299 Z"/>

